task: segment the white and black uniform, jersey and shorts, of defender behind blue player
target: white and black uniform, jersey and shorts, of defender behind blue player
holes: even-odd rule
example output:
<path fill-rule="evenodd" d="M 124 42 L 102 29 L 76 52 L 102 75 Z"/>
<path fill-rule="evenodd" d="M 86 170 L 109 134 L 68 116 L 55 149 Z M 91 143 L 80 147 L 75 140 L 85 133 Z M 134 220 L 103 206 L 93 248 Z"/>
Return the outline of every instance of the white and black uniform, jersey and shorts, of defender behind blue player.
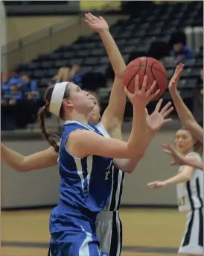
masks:
<path fill-rule="evenodd" d="M 110 137 L 101 122 L 97 128 L 103 136 Z M 124 172 L 112 167 L 112 191 L 109 202 L 98 214 L 96 221 L 96 234 L 100 240 L 101 252 L 110 256 L 120 256 L 122 248 L 122 223 L 119 216 L 121 196 L 123 193 Z"/>

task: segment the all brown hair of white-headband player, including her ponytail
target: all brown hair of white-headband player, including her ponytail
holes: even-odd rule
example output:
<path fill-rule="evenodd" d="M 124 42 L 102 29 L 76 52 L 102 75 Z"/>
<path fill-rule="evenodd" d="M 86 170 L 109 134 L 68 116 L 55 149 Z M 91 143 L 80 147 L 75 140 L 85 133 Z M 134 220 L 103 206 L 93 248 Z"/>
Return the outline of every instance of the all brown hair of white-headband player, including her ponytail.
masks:
<path fill-rule="evenodd" d="M 55 134 L 51 134 L 50 132 L 46 131 L 45 128 L 45 115 L 46 113 L 49 112 L 49 107 L 50 107 L 50 102 L 51 102 L 51 95 L 54 90 L 54 85 L 51 85 L 48 87 L 48 89 L 45 91 L 45 106 L 41 107 L 38 111 L 38 122 L 39 122 L 39 127 L 41 128 L 42 134 L 45 137 L 45 140 L 48 141 L 48 143 L 54 147 L 54 150 L 56 152 L 59 152 L 60 147 L 57 145 L 57 141 L 60 141 L 60 137 L 58 137 Z M 68 87 L 66 87 L 66 91 L 64 94 L 63 99 L 69 98 L 70 93 L 68 90 Z M 63 107 L 61 106 L 60 108 L 60 118 L 63 119 Z"/>

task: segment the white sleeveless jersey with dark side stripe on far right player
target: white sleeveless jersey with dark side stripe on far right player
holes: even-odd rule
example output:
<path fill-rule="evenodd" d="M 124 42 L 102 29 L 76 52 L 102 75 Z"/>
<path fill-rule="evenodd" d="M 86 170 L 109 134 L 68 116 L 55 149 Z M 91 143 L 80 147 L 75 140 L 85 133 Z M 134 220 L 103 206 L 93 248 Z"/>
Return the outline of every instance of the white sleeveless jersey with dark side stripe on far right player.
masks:
<path fill-rule="evenodd" d="M 200 154 L 190 152 L 187 156 L 197 157 L 197 160 L 202 161 Z M 179 167 L 179 172 L 182 172 L 184 166 Z M 177 184 L 177 198 L 179 211 L 188 211 L 203 207 L 203 170 L 194 169 L 191 180 L 186 183 Z"/>

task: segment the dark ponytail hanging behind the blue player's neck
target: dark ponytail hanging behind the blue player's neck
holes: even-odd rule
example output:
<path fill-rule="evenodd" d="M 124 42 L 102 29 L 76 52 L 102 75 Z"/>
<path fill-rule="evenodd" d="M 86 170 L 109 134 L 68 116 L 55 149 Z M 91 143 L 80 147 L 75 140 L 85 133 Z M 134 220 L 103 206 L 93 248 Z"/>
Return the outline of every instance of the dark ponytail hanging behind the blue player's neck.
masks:
<path fill-rule="evenodd" d="M 54 147 L 54 150 L 58 153 L 60 151 L 60 147 L 57 145 L 57 142 L 54 140 L 54 138 L 58 139 L 60 142 L 60 137 L 58 137 L 55 134 L 51 134 L 48 131 L 46 131 L 45 128 L 45 114 L 48 113 L 48 107 L 43 106 L 39 109 L 38 112 L 38 122 L 39 122 L 39 127 L 41 128 L 42 134 L 45 137 L 45 140 L 48 141 L 48 143 Z"/>

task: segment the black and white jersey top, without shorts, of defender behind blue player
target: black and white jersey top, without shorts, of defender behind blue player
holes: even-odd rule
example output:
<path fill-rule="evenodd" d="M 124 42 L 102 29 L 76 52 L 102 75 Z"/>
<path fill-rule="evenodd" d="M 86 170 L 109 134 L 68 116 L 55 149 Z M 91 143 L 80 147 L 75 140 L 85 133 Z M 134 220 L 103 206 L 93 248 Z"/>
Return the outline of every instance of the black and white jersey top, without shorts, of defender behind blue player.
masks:
<path fill-rule="evenodd" d="M 101 122 L 96 126 L 104 137 L 110 137 Z M 103 208 L 103 211 L 118 210 L 121 205 L 121 196 L 123 193 L 124 172 L 121 169 L 112 166 L 112 190 L 109 202 Z"/>

